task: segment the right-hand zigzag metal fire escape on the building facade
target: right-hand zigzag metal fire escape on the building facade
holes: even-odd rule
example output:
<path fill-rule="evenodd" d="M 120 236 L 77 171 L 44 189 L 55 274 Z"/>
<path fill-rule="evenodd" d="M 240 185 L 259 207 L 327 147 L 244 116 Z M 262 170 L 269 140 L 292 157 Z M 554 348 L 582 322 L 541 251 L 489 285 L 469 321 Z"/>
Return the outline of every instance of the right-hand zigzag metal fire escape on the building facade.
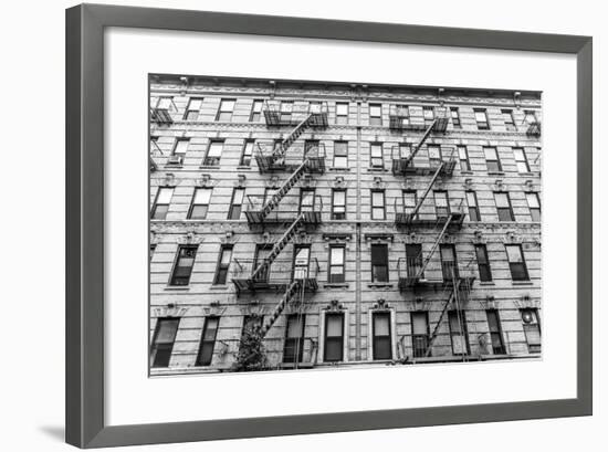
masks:
<path fill-rule="evenodd" d="M 468 301 L 471 285 L 474 280 L 472 273 L 467 271 L 470 263 L 464 271 L 459 270 L 455 250 L 452 245 L 444 245 L 445 248 L 442 249 L 441 244 L 448 231 L 458 231 L 462 228 L 464 221 L 462 200 L 450 200 L 447 191 L 438 190 L 433 192 L 433 204 L 424 204 L 437 180 L 440 177 L 444 178 L 452 176 L 455 166 L 454 149 L 449 149 L 450 156 L 445 160 L 442 157 L 444 148 L 442 149 L 438 146 L 433 148 L 438 155 L 431 156 L 429 153 L 428 166 L 415 165 L 415 159 L 420 150 L 424 148 L 424 143 L 429 136 L 433 133 L 445 133 L 448 122 L 448 109 L 444 107 L 434 108 L 432 119 L 427 119 L 426 122 L 417 122 L 416 118 L 410 117 L 407 108 L 392 106 L 390 109 L 391 129 L 423 132 L 421 139 L 417 144 L 406 148 L 408 150 L 407 155 L 402 155 L 402 147 L 399 147 L 398 153 L 394 150 L 394 175 L 405 177 L 430 176 L 430 180 L 420 198 L 418 198 L 417 191 L 411 191 L 407 195 L 406 190 L 402 199 L 396 201 L 395 222 L 398 227 L 405 227 L 410 230 L 416 228 L 430 228 L 436 234 L 431 249 L 426 256 L 422 253 L 421 244 L 412 244 L 406 250 L 407 256 L 399 259 L 399 290 L 401 292 L 424 290 L 441 291 L 445 299 L 432 332 L 429 332 L 427 335 L 421 335 L 420 337 L 412 335 L 415 357 L 431 356 L 432 345 L 439 335 L 440 327 L 450 306 L 455 308 L 461 336 L 465 334 L 461 306 L 463 302 Z M 429 266 L 438 249 L 441 254 L 441 267 L 439 272 Z M 439 275 L 437 273 L 439 273 Z M 465 344 L 464 337 L 461 337 L 461 345 L 462 344 Z M 462 353 L 463 356 L 465 354 L 465 351 Z"/>

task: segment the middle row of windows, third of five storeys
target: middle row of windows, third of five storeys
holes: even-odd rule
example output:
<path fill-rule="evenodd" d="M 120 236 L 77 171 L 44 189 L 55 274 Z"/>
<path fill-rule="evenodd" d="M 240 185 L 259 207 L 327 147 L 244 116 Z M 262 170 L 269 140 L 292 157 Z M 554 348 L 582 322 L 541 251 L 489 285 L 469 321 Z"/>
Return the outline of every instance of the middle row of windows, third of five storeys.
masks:
<path fill-rule="evenodd" d="M 266 188 L 262 202 L 256 204 L 258 210 L 261 209 L 272 197 L 279 191 L 276 188 Z M 209 204 L 211 202 L 213 189 L 212 188 L 196 188 L 192 201 L 188 210 L 187 218 L 190 220 L 205 220 L 209 212 Z M 314 188 L 300 189 L 300 204 L 298 212 L 318 211 L 321 206 L 317 206 L 319 201 L 315 196 L 316 190 Z M 506 191 L 494 191 L 494 202 L 496 206 L 496 212 L 499 221 L 515 221 L 513 213 L 513 207 L 511 204 L 511 197 Z M 174 195 L 174 188 L 160 187 L 158 189 L 156 200 L 150 213 L 153 220 L 165 220 L 169 210 Z M 402 190 L 401 201 L 405 213 L 413 213 L 418 204 L 418 192 L 416 190 Z M 480 208 L 478 204 L 478 197 L 475 191 L 465 191 L 467 206 L 470 221 L 482 221 Z M 541 221 L 541 200 L 537 192 L 525 193 L 527 206 L 532 221 Z M 228 208 L 228 220 L 239 220 L 243 210 L 243 202 L 245 201 L 245 189 L 234 188 L 232 191 L 232 198 Z M 434 201 L 434 214 L 437 218 L 445 218 L 451 213 L 452 207 L 450 206 L 450 199 L 448 191 L 433 190 Z M 371 220 L 386 220 L 386 192 L 385 190 L 370 190 L 370 207 L 371 207 Z M 345 220 L 346 219 L 346 189 L 332 189 L 332 220 Z M 417 217 L 420 217 L 417 213 Z"/>

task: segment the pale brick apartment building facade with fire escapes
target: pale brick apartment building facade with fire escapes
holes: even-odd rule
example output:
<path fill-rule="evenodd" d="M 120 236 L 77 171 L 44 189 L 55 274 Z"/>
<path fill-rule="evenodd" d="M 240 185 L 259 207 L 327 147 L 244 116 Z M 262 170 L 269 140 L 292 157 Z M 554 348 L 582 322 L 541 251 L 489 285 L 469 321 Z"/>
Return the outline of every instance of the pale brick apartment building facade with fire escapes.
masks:
<path fill-rule="evenodd" d="M 536 358 L 541 95 L 150 76 L 151 375 Z"/>

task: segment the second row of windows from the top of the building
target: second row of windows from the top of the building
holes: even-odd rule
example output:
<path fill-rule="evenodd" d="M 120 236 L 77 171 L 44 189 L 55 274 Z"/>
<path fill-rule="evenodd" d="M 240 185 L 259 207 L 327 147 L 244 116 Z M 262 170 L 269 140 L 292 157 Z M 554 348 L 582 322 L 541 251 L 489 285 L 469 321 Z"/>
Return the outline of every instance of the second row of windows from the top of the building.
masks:
<path fill-rule="evenodd" d="M 153 147 L 156 146 L 158 137 L 151 137 Z M 281 140 L 276 140 L 281 143 Z M 190 145 L 189 138 L 178 138 L 171 150 L 171 157 L 174 157 L 170 164 L 181 165 L 188 151 Z M 212 139 L 209 141 L 207 153 L 202 159 L 202 166 L 219 166 L 221 155 L 223 151 L 224 140 Z M 318 148 L 318 140 L 305 140 L 304 154 Z M 407 159 L 411 156 L 412 145 L 409 143 L 401 143 L 399 146 L 399 158 Z M 253 150 L 255 147 L 255 140 L 245 139 L 239 159 L 239 166 L 249 167 L 253 157 Z M 397 149 L 397 148 L 395 148 Z M 515 157 L 515 165 L 517 172 L 530 172 L 531 166 L 526 153 L 523 147 L 513 147 L 513 155 Z M 429 166 L 434 167 L 443 161 L 442 149 L 440 145 L 427 145 Z M 469 150 L 467 146 L 457 146 L 458 159 L 460 162 L 460 169 L 462 171 L 471 171 L 471 161 L 469 159 Z M 485 157 L 485 164 L 489 172 L 502 172 L 503 164 L 501 161 L 500 153 L 495 146 L 484 146 L 483 153 Z M 396 157 L 396 156 L 392 156 Z M 504 157 L 503 157 L 504 158 Z M 385 168 L 385 145 L 382 143 L 371 143 L 369 149 L 369 166 L 370 168 L 384 169 Z M 348 168 L 348 141 L 334 141 L 334 168 Z"/>

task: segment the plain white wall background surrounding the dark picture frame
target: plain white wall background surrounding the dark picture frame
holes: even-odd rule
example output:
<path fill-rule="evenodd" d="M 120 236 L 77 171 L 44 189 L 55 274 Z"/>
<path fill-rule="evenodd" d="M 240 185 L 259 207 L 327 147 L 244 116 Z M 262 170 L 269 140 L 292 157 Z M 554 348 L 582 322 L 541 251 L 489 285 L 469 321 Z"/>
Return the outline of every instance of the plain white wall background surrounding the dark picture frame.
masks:
<path fill-rule="evenodd" d="M 97 0 L 98 2 L 104 2 Z M 396 2 L 376 0 L 328 2 L 307 0 L 176 0 L 113 3 L 251 12 L 279 15 L 318 17 L 542 31 L 594 35 L 595 57 L 595 416 L 593 418 L 517 421 L 490 424 L 452 425 L 335 433 L 307 437 L 222 441 L 201 444 L 155 445 L 150 450 L 304 451 L 381 448 L 411 450 L 570 451 L 587 444 L 601 450 L 608 421 L 608 400 L 601 378 L 607 369 L 608 335 L 600 330 L 606 308 L 599 281 L 599 257 L 606 254 L 600 221 L 606 207 L 600 198 L 608 190 L 600 172 L 606 138 L 599 134 L 601 105 L 606 92 L 598 81 L 607 65 L 605 42 L 608 31 L 600 2 L 488 1 L 451 2 L 434 0 Z M 563 3 L 563 4 L 562 4 Z M 63 0 L 7 3 L 3 27 L 0 124 L 2 172 L 0 177 L 0 323 L 2 372 L 0 374 L 0 444 L 11 451 L 67 450 L 63 438 L 63 256 L 64 256 L 64 8 Z M 574 156 L 573 156 L 574 157 Z M 573 175 L 564 175 L 573 177 Z M 604 176 L 604 180 L 600 178 Z M 38 187 L 33 191 L 32 187 Z M 574 211 L 573 211 L 574 213 Z M 606 288 L 604 288 L 606 292 Z M 549 303 L 551 301 L 547 301 Z M 247 441 L 247 445 L 244 443 Z M 593 443 L 597 445 L 591 445 Z M 139 449 L 139 448 L 137 448 Z M 135 450 L 135 449 L 130 449 Z"/>

